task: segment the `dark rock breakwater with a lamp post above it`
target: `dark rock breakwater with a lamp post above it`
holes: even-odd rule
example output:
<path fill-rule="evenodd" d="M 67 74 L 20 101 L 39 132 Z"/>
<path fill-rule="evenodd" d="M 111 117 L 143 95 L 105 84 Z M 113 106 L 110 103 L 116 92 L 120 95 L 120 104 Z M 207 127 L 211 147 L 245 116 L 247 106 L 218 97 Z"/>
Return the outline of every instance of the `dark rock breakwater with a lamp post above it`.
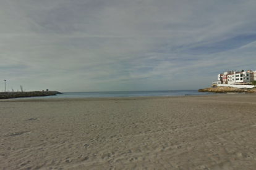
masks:
<path fill-rule="evenodd" d="M 36 97 L 61 94 L 58 91 L 33 91 L 33 92 L 0 92 L 0 99 L 10 99 L 18 97 Z"/>

